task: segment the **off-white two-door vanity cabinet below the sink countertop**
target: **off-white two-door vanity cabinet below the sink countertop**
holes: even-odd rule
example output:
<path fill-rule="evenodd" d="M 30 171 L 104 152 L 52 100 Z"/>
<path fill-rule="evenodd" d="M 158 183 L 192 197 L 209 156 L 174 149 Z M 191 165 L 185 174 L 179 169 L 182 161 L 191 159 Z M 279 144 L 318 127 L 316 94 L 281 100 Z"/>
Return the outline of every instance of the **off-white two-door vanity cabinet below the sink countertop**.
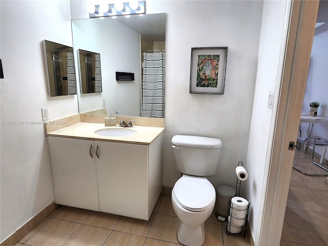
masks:
<path fill-rule="evenodd" d="M 149 220 L 162 189 L 162 134 L 149 145 L 48 139 L 55 203 Z"/>

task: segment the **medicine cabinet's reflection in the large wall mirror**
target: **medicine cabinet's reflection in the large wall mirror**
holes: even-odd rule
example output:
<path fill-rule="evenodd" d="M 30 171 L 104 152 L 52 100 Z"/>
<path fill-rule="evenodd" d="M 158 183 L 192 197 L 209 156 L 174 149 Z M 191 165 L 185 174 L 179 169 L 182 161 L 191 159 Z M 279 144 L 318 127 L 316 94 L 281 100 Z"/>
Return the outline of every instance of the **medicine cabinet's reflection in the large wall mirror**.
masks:
<path fill-rule="evenodd" d="M 100 54 L 78 50 L 82 93 L 102 92 Z"/>

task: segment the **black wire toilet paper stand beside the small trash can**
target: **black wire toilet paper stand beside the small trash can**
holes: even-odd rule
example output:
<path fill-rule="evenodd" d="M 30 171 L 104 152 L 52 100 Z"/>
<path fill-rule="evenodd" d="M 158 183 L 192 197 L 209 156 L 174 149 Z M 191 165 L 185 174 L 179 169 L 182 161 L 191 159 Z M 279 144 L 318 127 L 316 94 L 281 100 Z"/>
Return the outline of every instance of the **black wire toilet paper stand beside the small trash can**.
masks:
<path fill-rule="evenodd" d="M 241 166 L 242 167 L 242 161 L 239 161 L 238 162 L 238 167 Z M 240 196 L 240 187 L 241 187 L 241 180 L 238 179 L 237 177 L 237 181 L 236 181 L 236 196 Z M 228 220 L 228 223 L 227 223 L 227 230 L 226 230 L 226 234 L 229 236 L 230 234 L 234 235 L 234 236 L 237 236 L 237 237 L 246 237 L 246 231 L 247 231 L 247 222 L 248 222 L 248 214 L 249 214 L 249 210 L 250 210 L 250 204 L 248 204 L 247 206 L 247 209 L 243 209 L 243 210 L 239 210 L 237 208 L 234 208 L 233 207 L 233 204 L 231 202 L 231 200 L 229 201 L 229 210 L 228 210 L 228 217 L 231 216 L 231 220 L 230 220 L 230 223 L 229 223 L 229 220 Z M 232 216 L 232 211 L 236 211 L 237 213 L 246 213 L 246 216 L 243 218 L 237 218 L 237 217 L 233 217 Z M 232 220 L 235 220 L 235 221 L 239 221 L 239 222 L 243 222 L 243 225 L 242 226 L 239 226 L 239 225 L 232 225 Z M 239 231 L 238 233 L 232 233 L 231 231 Z"/>

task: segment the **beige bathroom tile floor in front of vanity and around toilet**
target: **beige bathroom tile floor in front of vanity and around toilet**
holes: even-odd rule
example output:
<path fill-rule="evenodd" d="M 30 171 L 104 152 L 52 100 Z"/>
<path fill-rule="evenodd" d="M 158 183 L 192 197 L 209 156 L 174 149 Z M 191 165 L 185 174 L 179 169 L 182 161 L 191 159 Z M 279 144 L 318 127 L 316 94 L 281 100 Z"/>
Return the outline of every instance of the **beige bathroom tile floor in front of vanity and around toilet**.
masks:
<path fill-rule="evenodd" d="M 215 211 L 214 211 L 215 212 Z M 228 236 L 226 223 L 206 222 L 204 246 L 248 246 L 248 238 Z M 15 246 L 173 246 L 180 245 L 171 197 L 160 195 L 149 221 L 60 206 Z"/>

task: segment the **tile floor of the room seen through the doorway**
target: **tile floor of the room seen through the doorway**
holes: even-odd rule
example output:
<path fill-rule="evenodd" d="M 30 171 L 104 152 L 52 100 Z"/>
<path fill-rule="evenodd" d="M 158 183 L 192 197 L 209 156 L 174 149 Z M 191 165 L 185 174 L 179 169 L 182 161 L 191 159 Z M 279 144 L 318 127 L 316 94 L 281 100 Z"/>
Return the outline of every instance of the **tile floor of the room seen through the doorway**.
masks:
<path fill-rule="evenodd" d="M 294 165 L 304 172 L 326 173 L 303 149 L 296 149 Z M 328 178 L 293 169 L 280 246 L 309 245 L 328 245 Z"/>

